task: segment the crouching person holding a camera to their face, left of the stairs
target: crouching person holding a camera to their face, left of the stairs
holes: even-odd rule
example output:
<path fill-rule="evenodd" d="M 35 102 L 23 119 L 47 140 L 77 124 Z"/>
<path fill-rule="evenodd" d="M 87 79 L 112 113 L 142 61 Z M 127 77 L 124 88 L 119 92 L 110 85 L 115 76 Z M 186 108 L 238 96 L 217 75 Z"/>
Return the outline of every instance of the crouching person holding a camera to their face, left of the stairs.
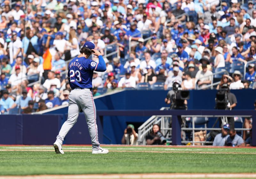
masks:
<path fill-rule="evenodd" d="M 122 144 L 138 145 L 138 134 L 134 130 L 134 126 L 129 124 L 124 130 L 124 136 L 122 138 Z"/>

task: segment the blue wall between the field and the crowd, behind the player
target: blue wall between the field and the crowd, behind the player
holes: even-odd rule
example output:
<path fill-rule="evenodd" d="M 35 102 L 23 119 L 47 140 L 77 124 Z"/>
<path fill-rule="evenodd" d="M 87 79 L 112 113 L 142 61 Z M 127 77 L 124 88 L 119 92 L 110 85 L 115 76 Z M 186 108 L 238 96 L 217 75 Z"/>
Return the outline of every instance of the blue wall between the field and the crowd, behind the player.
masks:
<path fill-rule="evenodd" d="M 213 109 L 217 90 L 193 90 L 190 92 L 188 109 Z M 236 109 L 253 109 L 256 99 L 254 89 L 232 90 L 238 104 Z M 164 103 L 167 91 L 126 90 L 95 98 L 97 110 L 159 110 L 169 107 Z M 0 115 L 0 144 L 52 144 L 58 131 L 67 119 L 67 107 L 47 114 Z M 104 144 L 120 144 L 127 124 L 138 128 L 150 116 L 105 116 L 97 118 L 99 141 Z M 214 121 L 208 123 L 212 125 Z M 83 114 L 68 133 L 66 144 L 90 144 L 90 136 Z"/>

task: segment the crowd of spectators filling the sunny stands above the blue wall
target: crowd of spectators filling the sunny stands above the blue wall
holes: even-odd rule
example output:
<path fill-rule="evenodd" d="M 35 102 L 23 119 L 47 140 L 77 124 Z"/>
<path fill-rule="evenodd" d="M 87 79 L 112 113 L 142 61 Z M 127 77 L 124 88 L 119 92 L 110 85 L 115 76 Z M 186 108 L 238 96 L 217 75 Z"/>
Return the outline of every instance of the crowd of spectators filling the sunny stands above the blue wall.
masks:
<path fill-rule="evenodd" d="M 67 104 L 68 60 L 86 41 L 103 56 L 116 52 L 104 57 L 106 73 L 93 74 L 94 96 L 173 81 L 256 88 L 255 62 L 247 64 L 256 58 L 251 0 L 4 0 L 0 16 L 1 113 Z"/>

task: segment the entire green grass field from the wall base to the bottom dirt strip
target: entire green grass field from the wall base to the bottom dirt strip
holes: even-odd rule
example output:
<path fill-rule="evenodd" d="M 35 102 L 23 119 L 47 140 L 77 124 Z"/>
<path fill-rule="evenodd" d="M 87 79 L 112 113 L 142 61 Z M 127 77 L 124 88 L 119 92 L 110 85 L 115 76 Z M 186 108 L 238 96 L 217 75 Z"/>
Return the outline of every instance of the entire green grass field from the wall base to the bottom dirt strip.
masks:
<path fill-rule="evenodd" d="M 255 173 L 255 148 L 0 146 L 0 175 L 120 173 Z"/>

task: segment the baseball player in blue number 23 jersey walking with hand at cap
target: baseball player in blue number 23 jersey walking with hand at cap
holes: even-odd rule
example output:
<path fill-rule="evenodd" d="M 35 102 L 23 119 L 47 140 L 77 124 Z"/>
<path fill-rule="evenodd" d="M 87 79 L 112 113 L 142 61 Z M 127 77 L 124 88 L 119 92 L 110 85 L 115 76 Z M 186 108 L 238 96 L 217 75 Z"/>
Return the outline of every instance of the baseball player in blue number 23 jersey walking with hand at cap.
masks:
<path fill-rule="evenodd" d="M 98 140 L 98 128 L 96 124 L 96 108 L 92 97 L 92 74 L 93 71 L 106 71 L 106 64 L 99 51 L 94 50 L 95 45 L 85 42 L 80 50 L 80 55 L 75 57 L 68 65 L 68 81 L 71 87 L 68 102 L 68 119 L 64 122 L 53 144 L 56 153 L 64 153 L 62 142 L 68 131 L 76 123 L 79 111 L 83 111 L 92 139 L 92 153 L 108 153 L 107 149 L 102 149 Z M 90 55 L 96 55 L 99 63 L 87 59 Z"/>

